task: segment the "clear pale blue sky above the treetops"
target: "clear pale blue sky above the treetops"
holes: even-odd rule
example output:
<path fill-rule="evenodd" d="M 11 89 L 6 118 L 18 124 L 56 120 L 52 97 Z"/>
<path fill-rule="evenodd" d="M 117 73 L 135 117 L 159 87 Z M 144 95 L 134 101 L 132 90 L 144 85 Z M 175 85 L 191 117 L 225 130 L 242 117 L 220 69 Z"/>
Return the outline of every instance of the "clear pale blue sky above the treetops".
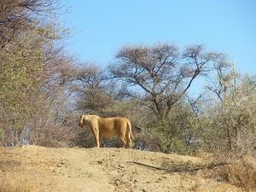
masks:
<path fill-rule="evenodd" d="M 256 0 L 62 0 L 70 49 L 107 65 L 123 44 L 205 44 L 256 73 Z"/>

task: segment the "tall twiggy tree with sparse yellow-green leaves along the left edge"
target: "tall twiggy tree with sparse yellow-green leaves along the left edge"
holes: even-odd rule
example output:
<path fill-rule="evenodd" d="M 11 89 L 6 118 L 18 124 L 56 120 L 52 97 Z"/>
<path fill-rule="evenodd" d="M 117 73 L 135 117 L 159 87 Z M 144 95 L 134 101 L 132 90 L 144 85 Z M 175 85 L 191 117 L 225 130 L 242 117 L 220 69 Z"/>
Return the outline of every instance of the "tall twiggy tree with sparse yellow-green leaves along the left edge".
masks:
<path fill-rule="evenodd" d="M 0 133 L 5 146 L 38 141 L 44 126 L 54 125 L 49 120 L 53 110 L 67 104 L 64 87 L 72 77 L 67 69 L 73 59 L 56 44 L 62 31 L 50 18 L 58 5 L 52 0 L 0 3 Z M 29 142 L 21 137 L 24 131 Z"/>

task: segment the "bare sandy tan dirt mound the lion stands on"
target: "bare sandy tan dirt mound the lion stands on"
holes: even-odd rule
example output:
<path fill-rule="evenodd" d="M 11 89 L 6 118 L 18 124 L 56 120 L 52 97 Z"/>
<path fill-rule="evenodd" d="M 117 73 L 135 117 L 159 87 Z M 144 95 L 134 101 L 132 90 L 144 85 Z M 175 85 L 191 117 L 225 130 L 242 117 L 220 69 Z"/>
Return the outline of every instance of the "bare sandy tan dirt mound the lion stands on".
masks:
<path fill-rule="evenodd" d="M 204 164 L 197 157 L 123 148 L 0 148 L 0 185 L 27 191 L 240 191 L 202 177 L 207 170 L 171 172 L 128 161 L 166 169 Z"/>

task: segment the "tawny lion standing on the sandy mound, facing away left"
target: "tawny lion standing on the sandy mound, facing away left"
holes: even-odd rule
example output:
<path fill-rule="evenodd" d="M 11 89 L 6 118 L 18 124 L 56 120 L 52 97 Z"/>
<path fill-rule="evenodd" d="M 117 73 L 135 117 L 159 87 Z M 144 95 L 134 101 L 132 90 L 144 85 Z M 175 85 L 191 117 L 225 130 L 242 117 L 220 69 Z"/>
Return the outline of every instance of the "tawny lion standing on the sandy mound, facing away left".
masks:
<path fill-rule="evenodd" d="M 131 122 L 124 117 L 101 118 L 95 114 L 81 114 L 79 116 L 79 127 L 87 126 L 93 134 L 96 142 L 96 148 L 100 147 L 101 137 L 118 136 L 123 143 L 122 148 L 126 144 L 131 148 L 134 140 L 131 133 Z"/>

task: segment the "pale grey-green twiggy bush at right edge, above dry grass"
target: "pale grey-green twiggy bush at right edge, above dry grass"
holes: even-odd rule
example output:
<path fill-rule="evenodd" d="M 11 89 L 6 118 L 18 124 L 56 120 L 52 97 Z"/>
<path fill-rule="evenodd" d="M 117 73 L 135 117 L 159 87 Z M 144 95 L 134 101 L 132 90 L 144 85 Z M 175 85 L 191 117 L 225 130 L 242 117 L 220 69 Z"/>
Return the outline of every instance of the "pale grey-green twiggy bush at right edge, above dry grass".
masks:
<path fill-rule="evenodd" d="M 255 137 L 255 77 L 236 73 L 234 67 L 218 76 L 219 85 L 207 86 L 208 101 L 198 118 L 201 138 L 209 150 L 253 154 Z M 209 88 L 211 87 L 211 88 Z M 199 130 L 199 131 L 200 131 Z"/>

